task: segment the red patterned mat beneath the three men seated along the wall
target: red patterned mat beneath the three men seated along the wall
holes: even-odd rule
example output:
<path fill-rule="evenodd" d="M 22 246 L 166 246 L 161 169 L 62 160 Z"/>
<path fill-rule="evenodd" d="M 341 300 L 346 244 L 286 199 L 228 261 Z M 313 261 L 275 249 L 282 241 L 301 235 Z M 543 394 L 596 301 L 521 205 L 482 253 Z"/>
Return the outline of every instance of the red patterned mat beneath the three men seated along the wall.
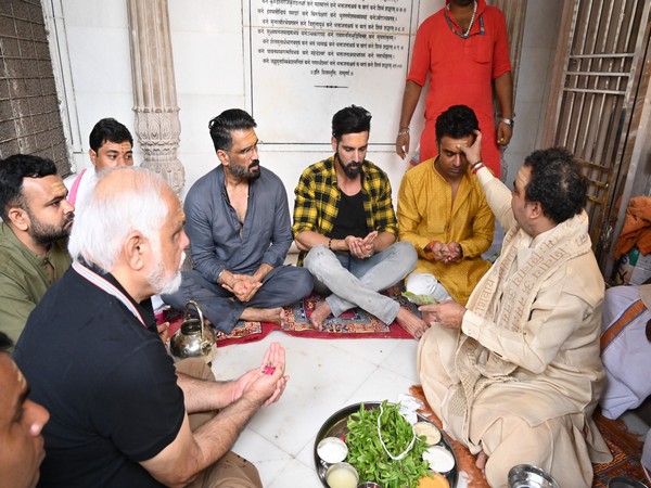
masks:
<path fill-rule="evenodd" d="M 416 307 L 401 296 L 399 286 L 393 286 L 385 294 L 397 300 L 400 306 L 416 311 Z M 323 330 L 315 331 L 310 329 L 309 317 L 322 300 L 323 297 L 312 294 L 290 307 L 285 307 L 288 324 L 283 326 L 267 322 L 240 321 L 230 334 L 221 331 L 217 332 L 217 346 L 222 347 L 260 341 L 272 331 L 281 331 L 297 337 L 312 338 L 411 338 L 398 323 L 394 322 L 387 325 L 359 308 L 348 310 L 337 318 L 330 316 L 326 320 Z M 170 322 L 169 335 L 171 335 L 180 326 L 182 318 L 179 312 L 171 312 L 168 317 Z"/>

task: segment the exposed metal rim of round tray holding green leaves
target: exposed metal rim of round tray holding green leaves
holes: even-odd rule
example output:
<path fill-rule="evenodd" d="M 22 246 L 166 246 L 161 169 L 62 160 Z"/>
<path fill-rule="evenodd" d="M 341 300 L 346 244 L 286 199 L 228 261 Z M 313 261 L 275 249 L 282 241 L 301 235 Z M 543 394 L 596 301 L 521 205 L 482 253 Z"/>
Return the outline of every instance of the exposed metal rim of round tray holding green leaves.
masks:
<path fill-rule="evenodd" d="M 330 418 L 326 422 L 323 422 L 323 425 L 321 426 L 321 428 L 319 429 L 319 433 L 317 434 L 317 438 L 315 439 L 315 446 L 314 446 L 315 468 L 317 471 L 317 474 L 319 475 L 319 479 L 321 480 L 321 484 L 326 488 L 328 488 L 328 483 L 326 481 L 327 467 L 321 463 L 321 459 L 319 458 L 319 454 L 317 454 L 317 446 L 321 441 L 321 439 L 323 439 L 324 437 L 344 437 L 344 436 L 346 436 L 348 434 L 348 425 L 347 425 L 348 416 L 350 416 L 353 413 L 358 412 L 360 406 L 361 406 L 361 403 L 350 404 L 350 406 L 344 407 L 340 411 L 333 413 L 332 415 L 330 415 Z M 380 406 L 380 401 L 365 401 L 363 406 L 367 410 L 373 410 Z M 424 418 L 421 414 L 418 414 L 418 420 L 419 420 L 419 422 L 432 423 L 429 419 Z M 441 432 L 441 441 L 437 444 L 437 446 L 444 446 L 448 451 L 450 451 L 452 453 L 452 457 L 455 458 L 455 467 L 452 467 L 452 470 L 447 475 L 445 475 L 448 483 L 450 484 L 450 487 L 455 488 L 457 486 L 457 481 L 459 479 L 459 470 L 457 467 L 457 457 L 455 455 L 455 450 L 452 449 L 452 446 L 448 441 L 446 434 L 443 431 Z"/>

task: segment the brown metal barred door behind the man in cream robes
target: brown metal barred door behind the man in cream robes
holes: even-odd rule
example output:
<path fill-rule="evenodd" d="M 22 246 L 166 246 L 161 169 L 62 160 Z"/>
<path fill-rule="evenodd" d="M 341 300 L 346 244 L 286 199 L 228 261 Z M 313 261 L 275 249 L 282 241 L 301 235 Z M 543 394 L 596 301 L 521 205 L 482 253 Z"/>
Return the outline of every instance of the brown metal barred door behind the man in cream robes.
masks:
<path fill-rule="evenodd" d="M 561 145 L 590 179 L 593 248 L 612 239 L 608 224 L 627 146 L 649 42 L 649 0 L 567 0 L 544 146 Z"/>

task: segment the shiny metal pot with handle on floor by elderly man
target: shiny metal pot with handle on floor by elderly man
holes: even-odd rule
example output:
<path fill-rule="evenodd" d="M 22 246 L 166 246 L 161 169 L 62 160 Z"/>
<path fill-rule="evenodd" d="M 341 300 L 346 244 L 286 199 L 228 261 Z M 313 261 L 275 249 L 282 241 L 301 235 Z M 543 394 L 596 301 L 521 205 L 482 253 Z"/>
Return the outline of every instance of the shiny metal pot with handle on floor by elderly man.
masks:
<path fill-rule="evenodd" d="M 199 319 L 190 314 L 190 307 L 194 307 L 199 313 Z M 210 326 L 204 325 L 203 313 L 199 304 L 190 300 L 183 308 L 183 323 L 171 336 L 170 349 L 173 356 L 177 358 L 202 358 L 206 362 L 212 362 L 217 352 L 215 344 L 215 333 Z"/>

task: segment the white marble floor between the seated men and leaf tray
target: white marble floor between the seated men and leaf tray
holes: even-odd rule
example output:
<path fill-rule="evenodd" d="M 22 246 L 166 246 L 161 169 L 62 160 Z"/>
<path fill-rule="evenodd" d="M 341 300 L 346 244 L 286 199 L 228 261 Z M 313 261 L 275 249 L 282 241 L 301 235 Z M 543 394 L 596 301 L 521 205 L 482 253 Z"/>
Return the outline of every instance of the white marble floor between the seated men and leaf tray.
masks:
<path fill-rule="evenodd" d="M 282 398 L 251 421 L 233 451 L 258 468 L 265 488 L 322 488 L 314 465 L 314 441 L 323 422 L 360 401 L 396 401 L 419 384 L 418 343 L 410 339 L 314 339 L 272 332 L 265 339 L 221 347 L 213 362 L 218 380 L 259 365 L 268 345 L 286 349 L 290 382 Z M 649 429 L 649 419 L 628 412 L 629 428 Z M 465 488 L 461 473 L 458 488 Z"/>

